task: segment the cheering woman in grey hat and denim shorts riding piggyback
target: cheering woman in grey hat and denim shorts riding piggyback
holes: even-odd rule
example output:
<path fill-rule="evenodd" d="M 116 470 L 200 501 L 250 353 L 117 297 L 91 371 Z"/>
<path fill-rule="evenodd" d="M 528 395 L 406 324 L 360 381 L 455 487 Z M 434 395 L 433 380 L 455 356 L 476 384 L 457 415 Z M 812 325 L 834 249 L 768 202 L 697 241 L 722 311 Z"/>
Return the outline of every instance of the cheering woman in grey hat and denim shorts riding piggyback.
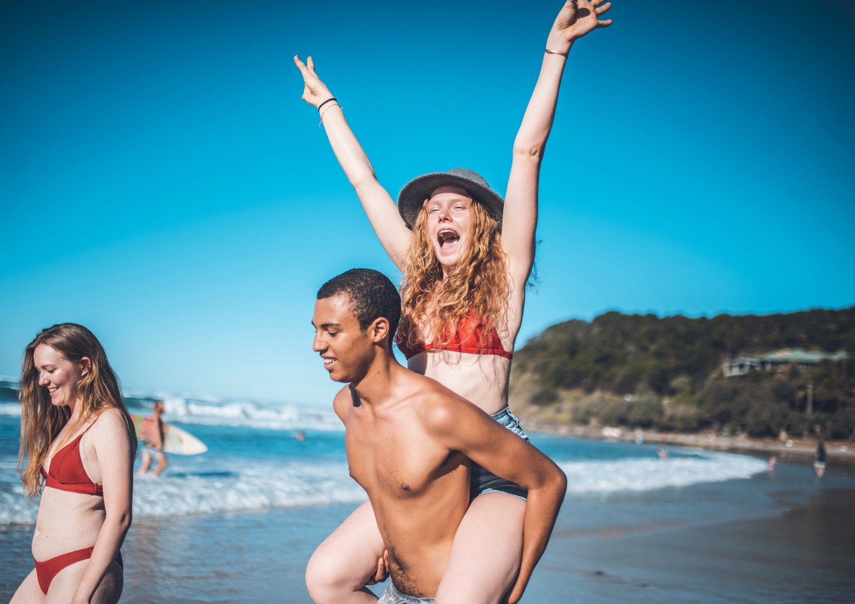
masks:
<path fill-rule="evenodd" d="M 610 25 L 602 0 L 567 2 L 546 41 L 540 77 L 513 146 L 507 202 L 466 169 L 420 176 L 398 206 L 309 57 L 294 62 L 303 99 L 318 108 L 333 152 L 386 253 L 404 275 L 398 349 L 410 369 L 435 378 L 524 437 L 507 407 L 510 361 L 534 264 L 540 161 L 552 126 L 564 63 L 575 40 Z M 438 602 L 519 600 L 539 557 L 522 539 L 525 491 L 475 467 L 473 497 L 459 526 Z M 542 551 L 542 549 L 540 550 Z M 383 544 L 370 504 L 321 543 L 306 571 L 315 602 L 370 602 Z M 378 563 L 380 560 L 380 563 Z"/>

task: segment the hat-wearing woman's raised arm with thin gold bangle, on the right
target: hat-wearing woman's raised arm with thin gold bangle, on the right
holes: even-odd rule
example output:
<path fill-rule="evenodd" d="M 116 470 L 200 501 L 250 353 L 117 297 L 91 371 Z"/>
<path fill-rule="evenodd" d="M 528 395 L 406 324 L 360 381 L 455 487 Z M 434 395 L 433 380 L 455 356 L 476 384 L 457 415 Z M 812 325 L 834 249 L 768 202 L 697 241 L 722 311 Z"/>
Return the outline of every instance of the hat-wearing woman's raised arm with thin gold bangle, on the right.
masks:
<path fill-rule="evenodd" d="M 555 117 L 564 64 L 576 40 L 598 27 L 611 25 L 610 19 L 600 21 L 598 18 L 610 9 L 611 3 L 600 2 L 571 0 L 564 3 L 546 38 L 540 76 L 516 133 L 502 221 L 502 243 L 516 288 L 525 287 L 534 264 L 540 161 Z"/>

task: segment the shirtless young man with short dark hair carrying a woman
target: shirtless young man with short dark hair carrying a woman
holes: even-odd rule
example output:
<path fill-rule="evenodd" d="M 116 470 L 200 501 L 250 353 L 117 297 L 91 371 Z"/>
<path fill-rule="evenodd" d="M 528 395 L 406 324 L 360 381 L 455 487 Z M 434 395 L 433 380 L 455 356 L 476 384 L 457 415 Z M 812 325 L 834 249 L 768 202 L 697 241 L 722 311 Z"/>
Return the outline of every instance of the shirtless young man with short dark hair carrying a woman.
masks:
<path fill-rule="evenodd" d="M 522 566 L 508 596 L 516 602 L 549 541 L 567 480 L 480 408 L 395 360 L 400 308 L 386 276 L 352 269 L 321 287 L 312 320 L 312 348 L 330 378 L 349 384 L 333 406 L 345 424 L 351 476 L 368 493 L 388 552 L 392 581 L 380 602 L 434 601 L 469 507 L 470 461 L 528 489 Z"/>

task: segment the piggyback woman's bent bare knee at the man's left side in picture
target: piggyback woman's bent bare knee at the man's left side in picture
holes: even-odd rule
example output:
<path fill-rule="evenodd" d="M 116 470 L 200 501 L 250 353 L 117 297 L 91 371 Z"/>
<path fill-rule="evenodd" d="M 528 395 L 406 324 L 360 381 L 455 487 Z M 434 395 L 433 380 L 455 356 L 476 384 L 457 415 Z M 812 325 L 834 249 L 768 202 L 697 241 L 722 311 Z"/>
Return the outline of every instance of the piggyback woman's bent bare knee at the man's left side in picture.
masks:
<path fill-rule="evenodd" d="M 371 604 L 365 584 L 383 556 L 383 538 L 369 501 L 357 507 L 315 549 L 306 566 L 306 587 L 316 604 Z"/>

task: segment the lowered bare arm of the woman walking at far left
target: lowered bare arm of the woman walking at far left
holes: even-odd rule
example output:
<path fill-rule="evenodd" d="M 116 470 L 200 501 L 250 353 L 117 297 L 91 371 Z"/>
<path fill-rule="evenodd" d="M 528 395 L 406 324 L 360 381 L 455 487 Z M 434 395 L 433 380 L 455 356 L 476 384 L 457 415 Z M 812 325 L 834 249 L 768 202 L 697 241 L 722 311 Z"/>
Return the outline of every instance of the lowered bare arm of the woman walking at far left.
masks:
<path fill-rule="evenodd" d="M 125 419 L 115 409 L 103 411 L 93 427 L 95 454 L 103 484 L 104 522 L 72 602 L 89 602 L 107 568 L 119 553 L 131 526 L 133 447 Z"/>

